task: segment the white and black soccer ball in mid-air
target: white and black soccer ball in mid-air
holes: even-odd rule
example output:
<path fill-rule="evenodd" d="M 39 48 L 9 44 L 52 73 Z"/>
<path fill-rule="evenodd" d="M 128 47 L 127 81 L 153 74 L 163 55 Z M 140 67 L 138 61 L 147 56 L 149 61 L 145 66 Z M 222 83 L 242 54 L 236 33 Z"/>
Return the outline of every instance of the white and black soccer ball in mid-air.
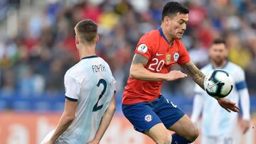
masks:
<path fill-rule="evenodd" d="M 223 98 L 233 89 L 233 79 L 224 70 L 213 70 L 204 79 L 204 87 L 210 96 Z"/>

